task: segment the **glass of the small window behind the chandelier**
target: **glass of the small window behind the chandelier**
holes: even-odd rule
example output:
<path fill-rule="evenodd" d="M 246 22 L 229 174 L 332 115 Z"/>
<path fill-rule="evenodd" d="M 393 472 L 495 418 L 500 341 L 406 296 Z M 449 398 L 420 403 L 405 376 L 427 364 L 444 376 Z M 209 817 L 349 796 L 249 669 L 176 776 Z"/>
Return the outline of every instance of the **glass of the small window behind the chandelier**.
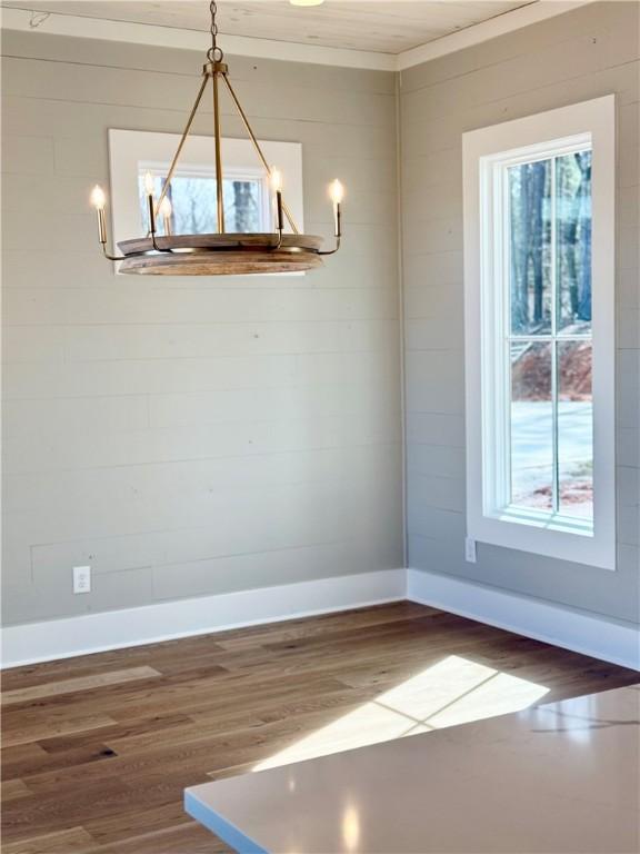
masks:
<path fill-rule="evenodd" d="M 162 191 L 164 179 L 153 177 L 156 198 Z M 142 227 L 149 228 L 147 199 L 144 197 L 144 171 L 139 176 L 140 211 Z M 272 226 L 263 222 L 263 183 L 258 178 L 223 181 L 224 225 L 227 231 L 270 231 Z M 171 230 L 174 235 L 204 235 L 217 230 L 216 178 L 213 176 L 176 175 L 171 181 L 172 207 Z M 162 217 L 158 217 L 157 230 L 164 234 Z"/>

